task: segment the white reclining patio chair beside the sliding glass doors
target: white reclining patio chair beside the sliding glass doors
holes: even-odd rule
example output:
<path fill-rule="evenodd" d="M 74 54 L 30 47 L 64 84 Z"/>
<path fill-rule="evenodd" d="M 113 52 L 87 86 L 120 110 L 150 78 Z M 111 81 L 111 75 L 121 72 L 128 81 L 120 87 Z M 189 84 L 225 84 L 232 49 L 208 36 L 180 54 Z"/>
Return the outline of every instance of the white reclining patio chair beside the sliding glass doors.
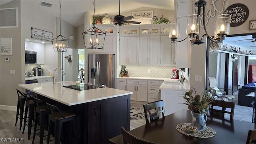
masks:
<path fill-rule="evenodd" d="M 233 90 L 228 89 L 228 88 L 218 88 L 216 85 L 216 78 L 214 78 L 214 77 L 209 77 L 208 79 L 209 79 L 210 88 L 213 88 L 214 90 L 216 90 L 216 96 L 218 97 L 217 100 L 228 101 L 228 100 L 232 99 L 232 102 L 234 102 L 234 98 L 236 98 L 236 97 L 233 95 Z M 220 90 L 220 89 L 231 90 L 231 95 L 226 94 L 225 91 Z"/>

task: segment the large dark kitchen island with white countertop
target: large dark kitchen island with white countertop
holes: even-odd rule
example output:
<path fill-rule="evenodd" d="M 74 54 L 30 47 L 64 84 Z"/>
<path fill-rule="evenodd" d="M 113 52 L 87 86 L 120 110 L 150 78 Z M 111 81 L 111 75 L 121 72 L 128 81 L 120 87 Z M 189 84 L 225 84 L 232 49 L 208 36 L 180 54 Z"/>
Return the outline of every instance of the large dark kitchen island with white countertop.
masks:
<path fill-rule="evenodd" d="M 121 126 L 130 130 L 130 94 L 113 88 L 74 90 L 63 86 L 76 82 L 19 84 L 46 99 L 64 104 L 76 112 L 78 143 L 105 144 L 121 134 Z"/>

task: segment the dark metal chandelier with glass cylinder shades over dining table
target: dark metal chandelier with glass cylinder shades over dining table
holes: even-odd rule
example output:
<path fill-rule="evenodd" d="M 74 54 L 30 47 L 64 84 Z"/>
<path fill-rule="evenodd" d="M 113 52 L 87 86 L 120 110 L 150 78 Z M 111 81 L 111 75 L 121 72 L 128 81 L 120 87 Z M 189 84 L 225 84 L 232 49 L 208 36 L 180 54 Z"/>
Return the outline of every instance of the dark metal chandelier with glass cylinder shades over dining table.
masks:
<path fill-rule="evenodd" d="M 204 44 L 205 36 L 207 36 L 213 42 L 218 42 L 218 43 L 222 42 L 226 38 L 226 35 L 229 34 L 231 15 L 221 14 L 217 16 L 216 23 L 214 26 L 215 30 L 214 30 L 214 38 L 213 38 L 208 34 L 206 30 L 206 25 L 205 25 L 204 17 L 205 17 L 206 1 L 198 0 L 196 1 L 195 6 L 197 8 L 197 14 L 192 14 L 187 16 L 186 34 L 188 34 L 188 36 L 186 38 L 189 37 L 192 44 Z M 200 27 L 201 8 L 203 8 L 202 21 L 203 21 L 205 34 L 202 35 L 202 37 L 200 38 L 199 27 Z M 195 9 L 195 12 L 196 12 L 196 9 Z M 180 37 L 179 29 L 180 29 L 180 22 L 170 23 L 169 38 L 171 38 L 172 42 L 182 42 L 186 40 L 186 38 L 184 38 L 183 40 L 176 41 L 176 39 Z"/>

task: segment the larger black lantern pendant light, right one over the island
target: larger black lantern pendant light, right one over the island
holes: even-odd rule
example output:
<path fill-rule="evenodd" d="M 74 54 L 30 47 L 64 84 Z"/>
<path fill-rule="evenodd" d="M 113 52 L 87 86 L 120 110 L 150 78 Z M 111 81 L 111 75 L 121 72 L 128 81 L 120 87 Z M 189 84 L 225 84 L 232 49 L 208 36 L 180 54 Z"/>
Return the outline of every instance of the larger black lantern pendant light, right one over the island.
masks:
<path fill-rule="evenodd" d="M 95 27 L 94 14 L 95 14 L 95 0 L 93 0 L 93 26 L 89 30 L 86 30 L 85 32 L 82 33 L 84 38 L 84 47 L 90 48 L 90 49 L 102 49 L 104 46 L 106 33 Z M 86 40 L 86 34 L 88 34 L 87 36 L 89 37 L 89 42 L 87 42 Z M 100 41 L 99 38 L 103 41 Z"/>

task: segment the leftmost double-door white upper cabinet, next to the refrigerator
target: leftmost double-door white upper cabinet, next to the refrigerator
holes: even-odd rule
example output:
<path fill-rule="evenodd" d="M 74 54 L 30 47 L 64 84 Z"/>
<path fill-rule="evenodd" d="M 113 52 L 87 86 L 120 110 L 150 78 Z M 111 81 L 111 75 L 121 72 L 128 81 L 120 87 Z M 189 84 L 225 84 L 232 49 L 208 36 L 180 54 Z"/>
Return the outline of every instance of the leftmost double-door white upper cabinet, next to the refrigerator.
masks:
<path fill-rule="evenodd" d="M 119 41 L 119 64 L 138 65 L 139 59 L 139 37 L 124 36 Z"/>

